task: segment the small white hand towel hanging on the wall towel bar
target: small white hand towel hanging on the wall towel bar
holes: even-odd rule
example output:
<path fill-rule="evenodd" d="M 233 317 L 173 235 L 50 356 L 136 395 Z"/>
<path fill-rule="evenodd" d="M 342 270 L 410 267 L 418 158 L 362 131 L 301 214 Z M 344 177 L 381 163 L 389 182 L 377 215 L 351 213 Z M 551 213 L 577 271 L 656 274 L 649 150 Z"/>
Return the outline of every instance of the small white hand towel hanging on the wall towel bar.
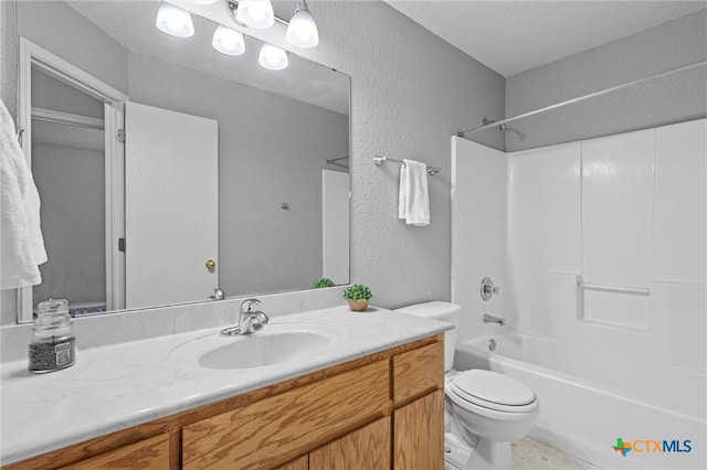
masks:
<path fill-rule="evenodd" d="M 404 218 L 408 225 L 430 225 L 428 165 L 414 160 L 403 162 L 400 169 L 398 218 Z"/>

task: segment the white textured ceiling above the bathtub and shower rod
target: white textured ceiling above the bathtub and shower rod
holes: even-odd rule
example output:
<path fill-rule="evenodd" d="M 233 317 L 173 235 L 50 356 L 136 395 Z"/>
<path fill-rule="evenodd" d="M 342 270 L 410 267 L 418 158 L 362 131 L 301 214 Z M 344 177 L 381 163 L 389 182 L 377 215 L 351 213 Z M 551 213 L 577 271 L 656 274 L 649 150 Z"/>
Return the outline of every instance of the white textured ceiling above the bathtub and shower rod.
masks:
<path fill-rule="evenodd" d="M 704 0 L 384 1 L 505 77 L 707 7 Z"/>

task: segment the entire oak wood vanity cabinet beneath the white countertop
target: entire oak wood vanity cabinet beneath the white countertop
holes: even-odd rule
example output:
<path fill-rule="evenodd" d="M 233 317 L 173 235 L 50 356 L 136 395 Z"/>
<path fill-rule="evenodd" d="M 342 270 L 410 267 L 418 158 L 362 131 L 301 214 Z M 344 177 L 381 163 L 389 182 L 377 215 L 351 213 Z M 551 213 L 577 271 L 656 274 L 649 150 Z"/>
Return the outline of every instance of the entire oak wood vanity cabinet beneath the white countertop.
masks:
<path fill-rule="evenodd" d="M 443 470 L 444 335 L 3 467 Z"/>

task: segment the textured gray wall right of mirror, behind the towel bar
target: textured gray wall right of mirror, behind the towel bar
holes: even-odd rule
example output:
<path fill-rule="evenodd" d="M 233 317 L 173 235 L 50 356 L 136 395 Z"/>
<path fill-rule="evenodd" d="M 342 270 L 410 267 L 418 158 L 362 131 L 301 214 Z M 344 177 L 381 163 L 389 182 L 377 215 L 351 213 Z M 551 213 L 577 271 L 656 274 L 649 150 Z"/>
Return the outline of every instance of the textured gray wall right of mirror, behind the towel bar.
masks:
<path fill-rule="evenodd" d="M 186 6 L 233 24 L 221 6 Z M 504 113 L 505 79 L 380 1 L 309 4 L 320 43 L 300 55 L 351 77 L 351 281 L 388 308 L 451 291 L 451 139 Z M 276 30 L 276 29 L 275 29 Z M 260 33 L 292 50 L 282 32 Z M 503 136 L 479 136 L 503 149 Z M 400 167 L 373 164 L 376 154 L 442 167 L 430 179 L 431 225 L 397 218 Z"/>

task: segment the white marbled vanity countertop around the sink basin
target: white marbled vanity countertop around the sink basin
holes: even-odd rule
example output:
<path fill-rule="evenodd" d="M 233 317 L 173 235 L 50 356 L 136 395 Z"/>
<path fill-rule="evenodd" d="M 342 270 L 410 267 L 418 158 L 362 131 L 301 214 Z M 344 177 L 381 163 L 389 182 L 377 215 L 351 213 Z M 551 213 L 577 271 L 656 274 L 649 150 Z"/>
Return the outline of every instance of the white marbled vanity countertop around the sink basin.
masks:
<path fill-rule="evenodd" d="M 25 360 L 4 363 L 0 370 L 0 462 L 38 456 L 451 328 L 384 309 L 357 313 L 337 307 L 277 317 L 263 331 L 294 323 L 323 329 L 335 341 L 313 356 L 241 370 L 199 364 L 207 345 L 232 340 L 219 337 L 222 327 L 86 351 L 81 350 L 77 338 L 76 364 L 49 374 L 30 374 Z"/>

